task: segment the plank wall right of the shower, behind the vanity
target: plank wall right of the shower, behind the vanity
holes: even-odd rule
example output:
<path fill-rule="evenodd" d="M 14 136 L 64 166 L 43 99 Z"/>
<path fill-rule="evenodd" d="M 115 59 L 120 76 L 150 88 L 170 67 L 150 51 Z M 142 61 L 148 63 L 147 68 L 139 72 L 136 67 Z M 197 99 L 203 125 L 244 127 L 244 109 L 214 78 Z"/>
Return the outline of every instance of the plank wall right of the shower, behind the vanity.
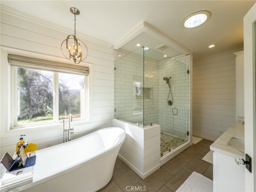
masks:
<path fill-rule="evenodd" d="M 236 121 L 233 52 L 193 60 L 194 136 L 214 141 Z"/>

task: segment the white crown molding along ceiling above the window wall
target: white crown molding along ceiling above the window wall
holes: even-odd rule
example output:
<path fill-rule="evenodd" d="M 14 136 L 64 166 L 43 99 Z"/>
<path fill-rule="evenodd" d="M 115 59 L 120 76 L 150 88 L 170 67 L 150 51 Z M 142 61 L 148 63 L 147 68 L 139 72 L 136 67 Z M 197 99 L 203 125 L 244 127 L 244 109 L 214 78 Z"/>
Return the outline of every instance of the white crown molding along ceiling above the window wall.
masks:
<path fill-rule="evenodd" d="M 21 19 L 24 19 L 24 20 L 28 20 L 28 21 L 34 22 L 36 24 L 40 24 L 42 26 L 52 28 L 54 30 L 58 30 L 58 31 L 61 31 L 61 32 L 66 32 L 68 34 L 70 34 L 70 33 L 73 34 L 73 31 L 68 29 L 68 28 L 64 28 L 64 27 L 62 27 L 60 25 L 57 25 L 57 24 L 54 24 L 52 22 L 48 22 L 46 20 L 36 18 L 36 17 L 34 17 L 30 14 L 26 14 L 24 12 L 14 10 L 12 8 L 9 8 L 9 7 L 1 5 L 1 4 L 0 4 L 0 10 L 1 10 L 1 12 L 5 13 L 5 14 L 9 14 L 11 16 L 15 16 L 15 17 L 18 17 L 18 18 L 21 18 Z M 91 36 L 88 36 L 86 34 L 82 34 L 82 33 L 77 33 L 77 34 L 79 35 L 80 38 L 89 40 L 91 42 L 94 42 L 94 43 L 97 43 L 97 44 L 100 44 L 100 45 L 103 45 L 103 46 L 107 46 L 109 48 L 112 48 L 112 46 L 113 46 L 113 44 L 111 44 L 111 43 L 102 41 L 100 39 L 97 39 L 97 38 L 94 38 L 94 37 L 91 37 Z"/>

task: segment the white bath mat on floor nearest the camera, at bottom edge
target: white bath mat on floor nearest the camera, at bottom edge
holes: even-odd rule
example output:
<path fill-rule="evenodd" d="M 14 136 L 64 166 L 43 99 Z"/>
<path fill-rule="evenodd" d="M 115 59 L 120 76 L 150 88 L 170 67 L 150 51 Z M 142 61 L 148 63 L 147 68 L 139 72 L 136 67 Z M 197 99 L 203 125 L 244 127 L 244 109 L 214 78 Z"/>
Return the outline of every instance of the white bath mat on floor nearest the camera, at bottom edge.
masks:
<path fill-rule="evenodd" d="M 176 190 L 176 192 L 212 192 L 212 180 L 199 174 L 192 172 L 186 181 Z"/>

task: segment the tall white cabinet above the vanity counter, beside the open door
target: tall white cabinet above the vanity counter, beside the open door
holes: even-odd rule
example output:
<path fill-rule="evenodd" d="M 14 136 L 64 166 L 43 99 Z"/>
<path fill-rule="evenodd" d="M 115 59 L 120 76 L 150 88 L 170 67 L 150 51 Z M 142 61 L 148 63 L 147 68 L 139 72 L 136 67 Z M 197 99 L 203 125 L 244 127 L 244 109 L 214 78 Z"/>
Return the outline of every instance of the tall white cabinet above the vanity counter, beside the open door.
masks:
<path fill-rule="evenodd" d="M 244 120 L 244 51 L 236 55 L 236 120 Z"/>

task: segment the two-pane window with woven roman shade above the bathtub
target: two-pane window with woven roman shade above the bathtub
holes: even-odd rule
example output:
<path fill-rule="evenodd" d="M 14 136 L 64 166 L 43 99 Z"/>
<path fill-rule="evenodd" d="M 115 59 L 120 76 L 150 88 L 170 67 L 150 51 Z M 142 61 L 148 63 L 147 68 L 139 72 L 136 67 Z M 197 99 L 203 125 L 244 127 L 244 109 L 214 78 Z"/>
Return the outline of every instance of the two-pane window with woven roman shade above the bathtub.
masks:
<path fill-rule="evenodd" d="M 62 63 L 10 54 L 8 61 L 14 101 L 11 128 L 58 123 L 69 114 L 73 121 L 88 119 L 88 67 L 63 68 Z"/>

